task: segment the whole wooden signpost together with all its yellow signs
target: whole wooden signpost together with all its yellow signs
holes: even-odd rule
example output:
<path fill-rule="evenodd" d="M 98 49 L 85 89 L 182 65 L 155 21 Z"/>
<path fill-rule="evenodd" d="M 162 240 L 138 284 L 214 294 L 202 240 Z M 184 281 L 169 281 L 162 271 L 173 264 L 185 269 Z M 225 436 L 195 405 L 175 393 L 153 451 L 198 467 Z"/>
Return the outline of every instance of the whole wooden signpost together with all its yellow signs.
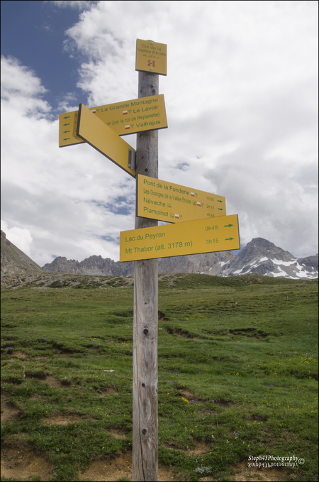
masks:
<path fill-rule="evenodd" d="M 158 258 L 240 248 L 225 197 L 158 180 L 158 130 L 167 127 L 159 75 L 167 45 L 137 40 L 138 99 L 60 114 L 59 146 L 89 143 L 137 178 L 135 229 L 120 233 L 120 261 L 134 261 L 133 481 L 157 481 Z M 140 116 L 140 119 L 138 119 Z M 137 133 L 136 151 L 120 136 Z M 158 220 L 173 224 L 158 226 Z"/>

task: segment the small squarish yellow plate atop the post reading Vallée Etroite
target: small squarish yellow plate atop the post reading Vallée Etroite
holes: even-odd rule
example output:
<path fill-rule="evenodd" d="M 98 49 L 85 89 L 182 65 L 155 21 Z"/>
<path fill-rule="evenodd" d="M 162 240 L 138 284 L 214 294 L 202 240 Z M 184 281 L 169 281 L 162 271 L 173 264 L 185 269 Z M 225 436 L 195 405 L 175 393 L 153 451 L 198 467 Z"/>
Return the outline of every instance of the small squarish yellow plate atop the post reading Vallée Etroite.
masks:
<path fill-rule="evenodd" d="M 167 75 L 167 45 L 152 40 L 136 40 L 135 70 Z"/>

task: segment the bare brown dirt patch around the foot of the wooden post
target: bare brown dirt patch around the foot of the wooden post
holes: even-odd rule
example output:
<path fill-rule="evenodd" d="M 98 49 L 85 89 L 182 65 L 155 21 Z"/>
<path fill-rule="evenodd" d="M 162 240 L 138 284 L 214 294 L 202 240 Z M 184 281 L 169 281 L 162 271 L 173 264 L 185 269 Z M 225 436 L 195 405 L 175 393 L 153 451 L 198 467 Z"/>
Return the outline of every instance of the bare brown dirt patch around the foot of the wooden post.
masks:
<path fill-rule="evenodd" d="M 89 478 L 90 481 L 118 481 L 121 478 L 132 480 L 132 454 L 117 454 L 116 456 L 103 457 L 93 462 L 89 469 L 79 473 L 80 480 Z M 174 481 L 172 469 L 159 464 L 158 481 Z"/>

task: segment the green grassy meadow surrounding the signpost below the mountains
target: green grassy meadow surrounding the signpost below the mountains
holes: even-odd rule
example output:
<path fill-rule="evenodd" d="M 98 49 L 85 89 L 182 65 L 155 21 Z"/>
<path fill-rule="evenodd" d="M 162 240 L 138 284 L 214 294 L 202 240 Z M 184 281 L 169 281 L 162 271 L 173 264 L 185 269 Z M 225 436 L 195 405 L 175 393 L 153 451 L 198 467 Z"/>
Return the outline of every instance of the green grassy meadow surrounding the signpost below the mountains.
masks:
<path fill-rule="evenodd" d="M 133 285 L 103 278 L 2 290 L 1 389 L 18 415 L 1 442 L 23 434 L 55 480 L 132 447 Z M 318 480 L 318 280 L 160 276 L 158 333 L 162 464 L 231 480 L 249 456 L 294 455 L 291 480 Z"/>

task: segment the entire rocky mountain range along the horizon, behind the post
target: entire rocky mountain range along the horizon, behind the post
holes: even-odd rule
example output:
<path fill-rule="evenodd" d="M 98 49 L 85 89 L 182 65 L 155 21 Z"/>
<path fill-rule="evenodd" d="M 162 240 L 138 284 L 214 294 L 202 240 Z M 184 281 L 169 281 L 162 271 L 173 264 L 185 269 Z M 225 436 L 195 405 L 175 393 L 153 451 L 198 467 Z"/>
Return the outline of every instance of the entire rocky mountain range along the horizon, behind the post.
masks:
<path fill-rule="evenodd" d="M 101 255 L 89 256 L 83 261 L 67 260 L 66 257 L 59 256 L 41 268 L 6 239 L 6 234 L 1 231 L 1 275 L 29 271 L 128 276 L 133 275 L 134 262 L 120 263 L 111 258 L 102 258 Z M 291 279 L 313 279 L 318 278 L 318 254 L 296 258 L 267 239 L 254 238 L 237 256 L 232 251 L 220 251 L 159 259 L 159 273 L 201 273 L 223 277 L 257 273 Z"/>

